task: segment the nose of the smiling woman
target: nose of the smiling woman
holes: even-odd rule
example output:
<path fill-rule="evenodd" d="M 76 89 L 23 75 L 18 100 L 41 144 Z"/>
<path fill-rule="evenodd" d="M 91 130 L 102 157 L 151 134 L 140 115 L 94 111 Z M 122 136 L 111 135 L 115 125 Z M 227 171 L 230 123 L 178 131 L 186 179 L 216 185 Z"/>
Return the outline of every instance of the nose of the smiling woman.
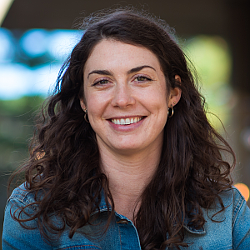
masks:
<path fill-rule="evenodd" d="M 133 90 L 126 83 L 117 84 L 112 99 L 112 105 L 120 108 L 134 105 L 135 99 L 132 95 L 132 91 Z"/>

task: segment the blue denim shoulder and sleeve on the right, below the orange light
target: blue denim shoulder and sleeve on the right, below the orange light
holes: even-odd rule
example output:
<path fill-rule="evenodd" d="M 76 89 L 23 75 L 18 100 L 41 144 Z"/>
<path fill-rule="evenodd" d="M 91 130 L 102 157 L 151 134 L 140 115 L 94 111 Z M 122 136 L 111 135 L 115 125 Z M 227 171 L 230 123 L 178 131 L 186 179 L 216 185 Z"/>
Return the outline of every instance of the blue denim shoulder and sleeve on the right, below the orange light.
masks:
<path fill-rule="evenodd" d="M 218 199 L 212 207 L 203 209 L 204 229 L 188 228 L 185 241 L 193 243 L 190 249 L 249 249 L 250 209 L 245 199 L 235 187 L 219 196 L 225 209 Z"/>

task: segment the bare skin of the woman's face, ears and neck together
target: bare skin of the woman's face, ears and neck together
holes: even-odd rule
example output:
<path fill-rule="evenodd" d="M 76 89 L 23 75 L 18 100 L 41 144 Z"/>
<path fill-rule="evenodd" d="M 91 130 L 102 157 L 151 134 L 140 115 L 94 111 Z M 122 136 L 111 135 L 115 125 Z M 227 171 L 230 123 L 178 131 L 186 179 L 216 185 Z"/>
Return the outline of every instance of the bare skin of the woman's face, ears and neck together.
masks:
<path fill-rule="evenodd" d="M 158 58 L 144 47 L 104 39 L 85 64 L 81 107 L 96 132 L 115 210 L 131 220 L 160 160 L 168 107 L 180 97 L 179 88 L 167 92 Z"/>

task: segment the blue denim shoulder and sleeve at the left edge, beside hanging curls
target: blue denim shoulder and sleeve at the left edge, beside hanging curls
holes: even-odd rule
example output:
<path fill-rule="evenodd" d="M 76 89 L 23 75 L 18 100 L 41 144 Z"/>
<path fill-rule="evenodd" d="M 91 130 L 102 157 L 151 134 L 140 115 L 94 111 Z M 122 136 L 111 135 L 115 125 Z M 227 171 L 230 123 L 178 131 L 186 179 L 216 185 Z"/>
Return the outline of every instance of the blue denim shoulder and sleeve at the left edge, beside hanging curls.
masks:
<path fill-rule="evenodd" d="M 13 190 L 5 208 L 3 249 L 50 249 L 40 234 L 36 220 L 30 220 L 30 216 L 37 210 L 37 205 L 34 203 L 35 194 L 28 190 L 26 183 Z"/>

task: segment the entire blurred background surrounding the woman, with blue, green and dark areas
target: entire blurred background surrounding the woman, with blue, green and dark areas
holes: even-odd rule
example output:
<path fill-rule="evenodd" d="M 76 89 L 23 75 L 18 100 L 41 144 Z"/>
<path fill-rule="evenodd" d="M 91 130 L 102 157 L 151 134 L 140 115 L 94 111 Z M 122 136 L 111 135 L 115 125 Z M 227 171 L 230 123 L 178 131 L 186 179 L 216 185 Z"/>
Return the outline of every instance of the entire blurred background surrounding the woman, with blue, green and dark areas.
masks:
<path fill-rule="evenodd" d="M 234 184 L 248 200 L 250 9 L 247 2 L 0 0 L 0 225 L 8 196 L 8 178 L 28 157 L 34 116 L 52 92 L 61 65 L 82 35 L 77 24 L 94 11 L 127 5 L 148 10 L 176 30 L 180 46 L 199 75 L 209 119 L 236 153 Z"/>

